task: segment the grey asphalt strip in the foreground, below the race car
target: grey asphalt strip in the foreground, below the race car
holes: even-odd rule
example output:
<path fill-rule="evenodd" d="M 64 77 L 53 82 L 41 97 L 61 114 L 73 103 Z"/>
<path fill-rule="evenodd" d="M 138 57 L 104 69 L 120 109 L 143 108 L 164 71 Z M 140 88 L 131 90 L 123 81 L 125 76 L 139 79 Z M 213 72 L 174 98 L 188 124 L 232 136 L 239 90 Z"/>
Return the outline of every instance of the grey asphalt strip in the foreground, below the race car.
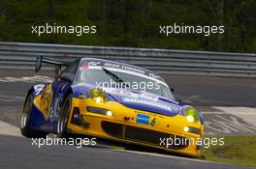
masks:
<path fill-rule="evenodd" d="M 31 140 L 0 136 L 0 168 L 208 168 L 236 169 L 231 165 L 188 160 L 172 156 L 137 155 L 108 148 L 31 146 Z"/>

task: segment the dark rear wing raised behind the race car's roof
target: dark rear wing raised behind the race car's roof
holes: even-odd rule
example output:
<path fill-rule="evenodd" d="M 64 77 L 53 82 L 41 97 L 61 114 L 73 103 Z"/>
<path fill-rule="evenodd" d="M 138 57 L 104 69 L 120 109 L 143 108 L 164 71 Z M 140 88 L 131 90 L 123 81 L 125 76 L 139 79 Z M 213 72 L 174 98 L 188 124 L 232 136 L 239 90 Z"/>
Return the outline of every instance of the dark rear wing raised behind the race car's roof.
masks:
<path fill-rule="evenodd" d="M 57 77 L 61 71 L 61 67 L 69 66 L 70 64 L 64 62 L 58 62 L 50 59 L 45 59 L 43 56 L 38 56 L 36 60 L 35 72 L 38 72 L 42 68 L 42 63 L 47 63 L 55 66 L 55 77 Z"/>

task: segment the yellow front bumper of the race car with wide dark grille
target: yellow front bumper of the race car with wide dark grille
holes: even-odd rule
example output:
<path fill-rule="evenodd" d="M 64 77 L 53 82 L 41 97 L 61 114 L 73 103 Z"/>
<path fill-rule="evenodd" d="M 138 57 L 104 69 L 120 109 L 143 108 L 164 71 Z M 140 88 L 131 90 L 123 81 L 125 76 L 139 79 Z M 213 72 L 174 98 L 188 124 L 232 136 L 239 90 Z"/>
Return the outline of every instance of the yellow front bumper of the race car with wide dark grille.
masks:
<path fill-rule="evenodd" d="M 112 111 L 112 116 L 88 112 L 86 106 Z M 80 110 L 80 118 L 86 126 L 72 124 L 70 116 L 68 129 L 72 132 L 97 136 L 115 141 L 149 146 L 185 155 L 200 155 L 200 147 L 195 141 L 204 137 L 204 125 L 200 122 L 189 123 L 182 115 L 164 116 L 123 106 L 116 101 L 96 103 L 92 99 L 73 99 L 72 112 Z M 148 124 L 139 124 L 137 115 L 149 117 Z M 154 121 L 152 124 L 151 122 Z M 197 132 L 184 131 L 184 127 L 196 128 Z M 189 139 L 193 141 L 189 142 Z M 181 140 L 175 144 L 175 140 Z M 173 144 L 170 144 L 172 141 Z"/>

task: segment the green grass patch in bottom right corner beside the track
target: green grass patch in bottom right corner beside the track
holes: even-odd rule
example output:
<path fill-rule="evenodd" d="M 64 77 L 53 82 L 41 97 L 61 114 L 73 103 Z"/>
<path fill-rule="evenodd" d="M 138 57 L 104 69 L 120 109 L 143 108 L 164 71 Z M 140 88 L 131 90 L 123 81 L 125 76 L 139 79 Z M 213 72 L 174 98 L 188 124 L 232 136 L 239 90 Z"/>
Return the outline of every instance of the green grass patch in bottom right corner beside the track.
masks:
<path fill-rule="evenodd" d="M 202 155 L 206 160 L 256 167 L 256 136 L 224 136 L 225 145 L 210 146 Z"/>

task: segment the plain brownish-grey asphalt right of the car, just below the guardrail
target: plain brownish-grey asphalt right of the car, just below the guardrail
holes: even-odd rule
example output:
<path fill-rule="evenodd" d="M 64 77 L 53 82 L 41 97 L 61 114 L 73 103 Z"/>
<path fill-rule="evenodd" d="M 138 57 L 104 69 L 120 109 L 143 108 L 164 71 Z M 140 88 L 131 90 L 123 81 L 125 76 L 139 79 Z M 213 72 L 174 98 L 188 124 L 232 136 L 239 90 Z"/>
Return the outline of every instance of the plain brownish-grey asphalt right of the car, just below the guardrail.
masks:
<path fill-rule="evenodd" d="M 167 74 L 163 77 L 175 89 L 177 99 L 192 105 L 256 106 L 256 78 Z"/>

